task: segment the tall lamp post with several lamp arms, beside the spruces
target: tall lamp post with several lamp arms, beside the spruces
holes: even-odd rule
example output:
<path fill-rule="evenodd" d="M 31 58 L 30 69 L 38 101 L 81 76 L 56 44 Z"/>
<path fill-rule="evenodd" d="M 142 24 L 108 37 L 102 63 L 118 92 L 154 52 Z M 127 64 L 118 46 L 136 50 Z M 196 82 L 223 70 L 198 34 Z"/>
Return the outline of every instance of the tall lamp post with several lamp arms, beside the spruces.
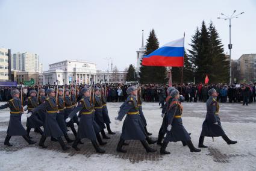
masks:
<path fill-rule="evenodd" d="M 221 13 L 223 17 L 217 17 L 217 19 L 224 19 L 224 20 L 229 20 L 229 44 L 228 44 L 228 49 L 229 49 L 229 83 L 232 84 L 232 74 L 231 74 L 231 49 L 232 49 L 232 44 L 231 44 L 231 19 L 236 19 L 238 16 L 241 14 L 245 13 L 239 13 L 235 14 L 236 10 L 233 11 L 233 14 L 231 16 L 226 16 L 225 14 Z"/>

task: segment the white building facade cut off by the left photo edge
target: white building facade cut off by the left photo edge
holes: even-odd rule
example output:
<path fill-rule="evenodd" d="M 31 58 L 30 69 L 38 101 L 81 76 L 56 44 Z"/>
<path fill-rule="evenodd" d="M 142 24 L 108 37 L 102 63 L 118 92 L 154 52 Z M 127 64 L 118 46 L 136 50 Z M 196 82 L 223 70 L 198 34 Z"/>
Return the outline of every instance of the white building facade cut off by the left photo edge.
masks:
<path fill-rule="evenodd" d="M 0 48 L 0 81 L 8 81 L 8 49 Z"/>

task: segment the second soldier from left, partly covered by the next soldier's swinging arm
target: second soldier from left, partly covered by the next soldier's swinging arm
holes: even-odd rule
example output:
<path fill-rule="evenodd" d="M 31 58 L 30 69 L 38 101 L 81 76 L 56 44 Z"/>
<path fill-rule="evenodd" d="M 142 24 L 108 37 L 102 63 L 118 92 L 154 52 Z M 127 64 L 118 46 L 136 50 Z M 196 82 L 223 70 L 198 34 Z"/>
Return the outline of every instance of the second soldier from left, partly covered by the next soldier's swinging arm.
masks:
<path fill-rule="evenodd" d="M 26 100 L 26 104 L 28 106 L 28 114 L 27 114 L 27 132 L 28 137 L 30 137 L 30 130 L 34 128 L 35 131 L 39 132 L 41 135 L 43 134 L 40 126 L 43 126 L 42 120 L 39 119 L 38 114 L 31 114 L 30 112 L 38 106 L 36 90 L 30 90 L 30 97 Z"/>

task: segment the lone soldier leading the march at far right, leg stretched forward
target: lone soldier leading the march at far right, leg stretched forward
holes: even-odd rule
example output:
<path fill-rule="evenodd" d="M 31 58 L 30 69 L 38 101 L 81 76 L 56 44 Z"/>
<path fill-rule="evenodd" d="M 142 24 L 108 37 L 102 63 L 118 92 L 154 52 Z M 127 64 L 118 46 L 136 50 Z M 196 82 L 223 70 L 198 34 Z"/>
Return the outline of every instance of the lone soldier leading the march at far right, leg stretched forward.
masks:
<path fill-rule="evenodd" d="M 210 89 L 208 91 L 210 98 L 207 100 L 207 114 L 202 123 L 202 132 L 199 138 L 199 148 L 208 148 L 204 145 L 204 137 L 219 137 L 222 136 L 223 140 L 226 141 L 228 145 L 236 144 L 237 141 L 232 141 L 223 131 L 219 117 L 219 102 L 217 102 L 217 92 L 215 89 Z"/>

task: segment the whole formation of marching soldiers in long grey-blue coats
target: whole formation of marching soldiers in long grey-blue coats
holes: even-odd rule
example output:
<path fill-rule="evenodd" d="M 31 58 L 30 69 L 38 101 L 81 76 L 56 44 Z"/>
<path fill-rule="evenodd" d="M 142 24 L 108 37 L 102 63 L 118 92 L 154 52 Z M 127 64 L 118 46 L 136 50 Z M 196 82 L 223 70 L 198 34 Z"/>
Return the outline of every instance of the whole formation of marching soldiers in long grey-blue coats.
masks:
<path fill-rule="evenodd" d="M 23 92 L 21 87 L 20 91 Z M 4 145 L 12 146 L 11 136 L 22 136 L 29 145 L 37 143 L 30 137 L 31 129 L 41 135 L 39 146 L 47 148 L 45 141 L 47 137 L 60 144 L 61 149 L 69 149 L 69 143 L 75 151 L 80 151 L 79 146 L 83 146 L 83 138 L 92 142 L 95 151 L 104 153 L 104 145 L 115 132 L 110 128 L 110 117 L 107 108 L 107 85 L 90 85 L 78 87 L 76 85 L 58 86 L 54 85 L 45 89 L 31 89 L 27 98 L 23 93 L 14 89 L 11 91 L 10 101 L 1 105 L 0 109 L 10 108 L 10 121 Z M 126 153 L 125 147 L 129 143 L 126 140 L 139 140 L 146 152 L 156 152 L 150 145 L 157 143 L 160 146 L 160 154 L 166 155 L 169 142 L 181 141 L 190 152 L 200 152 L 207 148 L 204 145 L 204 138 L 221 136 L 228 145 L 236 144 L 237 141 L 230 140 L 223 131 L 219 117 L 218 93 L 215 89 L 208 90 L 208 100 L 206 102 L 207 113 L 202 123 L 202 131 L 199 137 L 198 148 L 192 143 L 190 133 L 183 125 L 182 114 L 184 97 L 174 87 L 167 89 L 166 103 L 162 104 L 163 117 L 158 139 L 152 140 L 147 129 L 147 122 L 142 108 L 142 89 L 140 85 L 130 86 L 126 89 L 126 100 L 120 106 L 115 119 L 115 124 L 119 125 L 123 120 L 122 133 L 117 143 L 116 151 Z M 162 98 L 163 99 L 163 98 Z M 22 126 L 21 116 L 27 113 L 27 130 Z M 75 124 L 78 126 L 76 130 Z M 69 127 L 75 136 L 72 140 L 67 134 Z M 105 133 L 107 128 L 108 135 Z M 63 141 L 66 140 L 66 143 Z"/>

